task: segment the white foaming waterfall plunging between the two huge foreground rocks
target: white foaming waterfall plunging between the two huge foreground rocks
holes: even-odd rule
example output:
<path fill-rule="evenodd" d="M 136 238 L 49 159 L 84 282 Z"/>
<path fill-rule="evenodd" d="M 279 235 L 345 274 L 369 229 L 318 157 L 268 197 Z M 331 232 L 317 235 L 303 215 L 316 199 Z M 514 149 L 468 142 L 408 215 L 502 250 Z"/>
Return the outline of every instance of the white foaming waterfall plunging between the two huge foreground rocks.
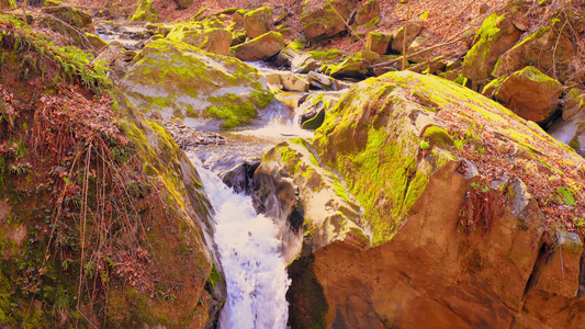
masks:
<path fill-rule="evenodd" d="M 251 198 L 236 194 L 213 172 L 198 166 L 215 208 L 215 242 L 227 283 L 220 329 L 286 328 L 291 283 L 277 226 L 257 215 Z"/>

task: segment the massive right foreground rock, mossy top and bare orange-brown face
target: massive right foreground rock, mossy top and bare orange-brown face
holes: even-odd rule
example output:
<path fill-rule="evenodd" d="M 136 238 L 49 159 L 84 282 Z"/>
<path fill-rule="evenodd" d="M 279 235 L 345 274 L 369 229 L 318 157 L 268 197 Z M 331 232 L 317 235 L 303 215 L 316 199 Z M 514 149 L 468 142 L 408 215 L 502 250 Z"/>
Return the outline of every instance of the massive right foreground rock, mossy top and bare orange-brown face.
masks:
<path fill-rule="evenodd" d="M 356 84 L 312 144 L 279 145 L 255 173 L 278 171 L 305 209 L 291 315 L 320 311 L 293 327 L 577 328 L 584 163 L 441 78 Z M 327 190 L 344 201 L 315 196 Z"/>

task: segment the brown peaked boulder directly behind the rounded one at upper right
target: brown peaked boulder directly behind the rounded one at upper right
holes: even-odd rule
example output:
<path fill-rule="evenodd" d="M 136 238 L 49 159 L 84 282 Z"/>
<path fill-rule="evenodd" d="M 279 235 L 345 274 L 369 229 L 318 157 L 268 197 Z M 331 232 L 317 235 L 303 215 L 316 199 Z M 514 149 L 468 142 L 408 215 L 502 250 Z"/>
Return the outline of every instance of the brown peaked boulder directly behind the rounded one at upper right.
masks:
<path fill-rule="evenodd" d="M 565 81 L 573 75 L 571 60 L 575 56 L 575 49 L 563 26 L 562 22 L 553 20 L 549 26 L 541 27 L 526 37 L 502 55 L 492 75 L 502 77 L 533 66 L 560 81 Z"/>

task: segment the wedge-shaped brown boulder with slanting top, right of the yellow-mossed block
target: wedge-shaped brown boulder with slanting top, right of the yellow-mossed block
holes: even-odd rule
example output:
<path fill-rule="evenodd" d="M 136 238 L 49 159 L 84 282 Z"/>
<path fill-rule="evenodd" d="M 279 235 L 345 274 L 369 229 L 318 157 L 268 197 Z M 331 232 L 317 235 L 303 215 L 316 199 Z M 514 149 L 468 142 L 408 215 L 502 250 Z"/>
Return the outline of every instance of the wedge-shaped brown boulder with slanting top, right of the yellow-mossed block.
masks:
<path fill-rule="evenodd" d="M 282 34 L 271 31 L 248 42 L 232 47 L 234 56 L 240 60 L 267 60 L 284 48 Z"/>

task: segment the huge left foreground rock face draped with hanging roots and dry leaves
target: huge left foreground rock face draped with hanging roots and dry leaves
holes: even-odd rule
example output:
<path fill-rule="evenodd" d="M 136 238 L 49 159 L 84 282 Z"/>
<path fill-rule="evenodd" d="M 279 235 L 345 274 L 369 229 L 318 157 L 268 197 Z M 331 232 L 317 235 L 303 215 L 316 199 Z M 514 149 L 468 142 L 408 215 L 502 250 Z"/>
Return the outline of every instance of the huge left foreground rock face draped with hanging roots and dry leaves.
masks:
<path fill-rule="evenodd" d="M 189 159 L 92 55 L 0 30 L 0 324 L 212 326 L 225 285 Z"/>

